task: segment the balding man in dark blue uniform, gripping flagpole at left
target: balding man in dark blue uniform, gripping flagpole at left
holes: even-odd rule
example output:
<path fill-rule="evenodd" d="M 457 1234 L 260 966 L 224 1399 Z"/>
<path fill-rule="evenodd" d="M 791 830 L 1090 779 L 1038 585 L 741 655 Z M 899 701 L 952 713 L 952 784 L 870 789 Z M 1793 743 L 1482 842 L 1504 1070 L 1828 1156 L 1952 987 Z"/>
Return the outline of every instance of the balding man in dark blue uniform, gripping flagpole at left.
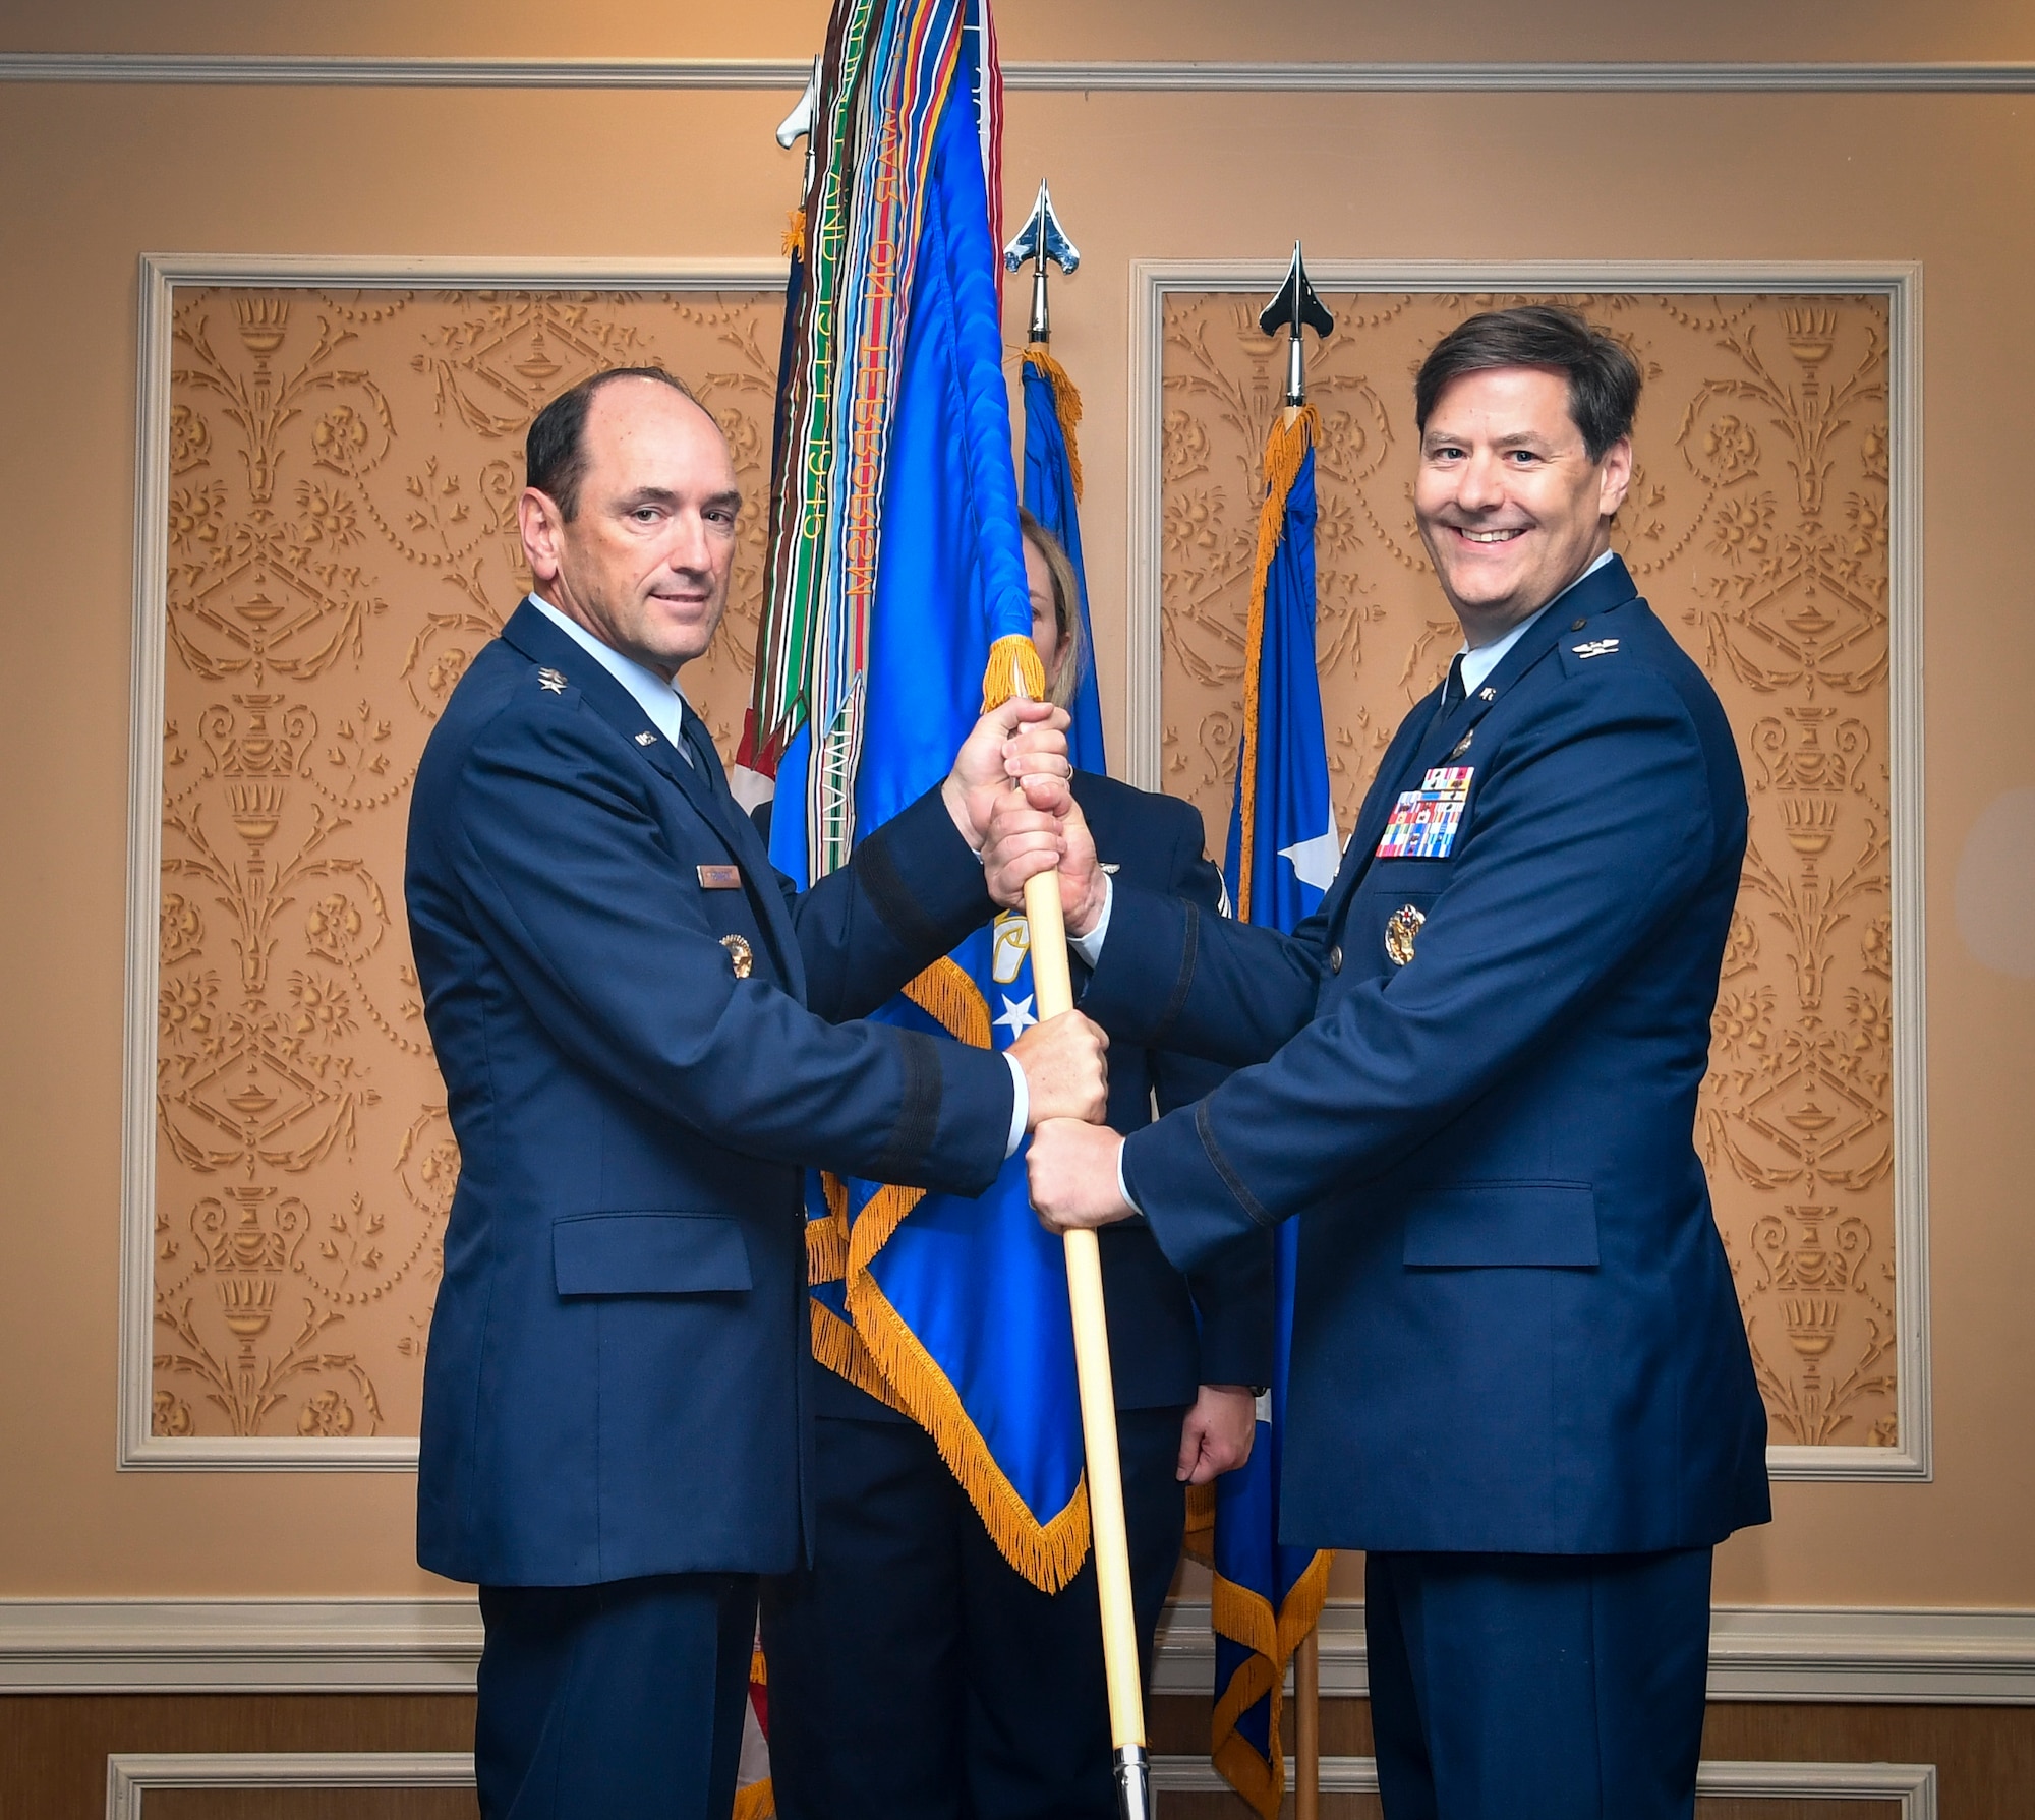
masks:
<path fill-rule="evenodd" d="M 480 1582 L 482 1814 L 724 1816 L 755 1576 L 812 1541 L 802 1171 L 981 1193 L 1028 1124 L 1103 1112 L 1079 1016 L 1007 1057 L 845 1022 L 1054 863 L 1038 816 L 997 816 L 1009 735 L 1066 717 L 985 717 L 800 898 L 676 686 L 735 554 L 714 421 L 661 373 L 598 375 L 537 415 L 527 472 L 537 590 L 411 810 L 462 1164 L 417 1557 Z"/>

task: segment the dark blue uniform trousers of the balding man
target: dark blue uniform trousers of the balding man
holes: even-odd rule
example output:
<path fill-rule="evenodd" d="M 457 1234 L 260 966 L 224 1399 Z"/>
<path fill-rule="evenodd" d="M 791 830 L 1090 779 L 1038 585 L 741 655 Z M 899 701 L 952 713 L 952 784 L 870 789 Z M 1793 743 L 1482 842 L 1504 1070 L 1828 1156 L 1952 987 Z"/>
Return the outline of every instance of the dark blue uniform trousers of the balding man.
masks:
<path fill-rule="evenodd" d="M 726 1820 L 753 1574 L 482 1586 L 482 1820 Z"/>

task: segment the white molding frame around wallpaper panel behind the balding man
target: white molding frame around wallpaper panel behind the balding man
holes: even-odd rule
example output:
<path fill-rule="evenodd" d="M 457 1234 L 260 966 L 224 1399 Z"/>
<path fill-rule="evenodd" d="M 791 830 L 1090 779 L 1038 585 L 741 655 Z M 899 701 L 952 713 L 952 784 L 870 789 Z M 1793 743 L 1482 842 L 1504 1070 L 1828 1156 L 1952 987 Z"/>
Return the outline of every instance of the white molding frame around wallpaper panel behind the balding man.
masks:
<path fill-rule="evenodd" d="M 153 1435 L 155 1044 L 169 613 L 169 375 L 179 287 L 379 291 L 781 291 L 783 259 L 425 259 L 149 252 L 134 421 L 134 662 L 128 753 L 126 1067 L 120 1136 L 118 1466 L 171 1472 L 413 1472 L 415 1437 Z"/>

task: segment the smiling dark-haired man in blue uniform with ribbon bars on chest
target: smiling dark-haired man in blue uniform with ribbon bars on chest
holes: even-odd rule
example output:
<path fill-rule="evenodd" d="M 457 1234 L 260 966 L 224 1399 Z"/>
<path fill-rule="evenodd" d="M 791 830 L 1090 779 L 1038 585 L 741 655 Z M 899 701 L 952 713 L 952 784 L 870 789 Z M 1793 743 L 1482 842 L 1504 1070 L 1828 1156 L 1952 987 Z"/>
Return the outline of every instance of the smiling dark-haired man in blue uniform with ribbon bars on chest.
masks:
<path fill-rule="evenodd" d="M 1561 309 L 1429 354 L 1414 507 L 1465 647 L 1292 936 L 1111 892 L 1066 818 L 1083 1010 L 1243 1067 L 1129 1138 L 1044 1126 L 1032 1197 L 1138 1207 L 1180 1268 L 1302 1221 L 1282 1529 L 1370 1551 L 1390 1820 L 1689 1816 L 1711 1547 L 1768 1517 L 1691 1142 L 1746 798 L 1610 552 L 1638 385 Z"/>

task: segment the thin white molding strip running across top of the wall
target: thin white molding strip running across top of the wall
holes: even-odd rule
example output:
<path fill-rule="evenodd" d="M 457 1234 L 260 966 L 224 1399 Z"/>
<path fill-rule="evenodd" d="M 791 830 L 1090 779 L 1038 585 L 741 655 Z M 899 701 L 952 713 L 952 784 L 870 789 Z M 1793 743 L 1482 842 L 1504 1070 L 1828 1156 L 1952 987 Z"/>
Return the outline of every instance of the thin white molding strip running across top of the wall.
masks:
<path fill-rule="evenodd" d="M 804 57 L 0 53 L 0 83 L 798 92 L 810 73 Z M 2023 94 L 2035 90 L 2035 63 L 1011 61 L 1003 83 L 1034 94 Z"/>

